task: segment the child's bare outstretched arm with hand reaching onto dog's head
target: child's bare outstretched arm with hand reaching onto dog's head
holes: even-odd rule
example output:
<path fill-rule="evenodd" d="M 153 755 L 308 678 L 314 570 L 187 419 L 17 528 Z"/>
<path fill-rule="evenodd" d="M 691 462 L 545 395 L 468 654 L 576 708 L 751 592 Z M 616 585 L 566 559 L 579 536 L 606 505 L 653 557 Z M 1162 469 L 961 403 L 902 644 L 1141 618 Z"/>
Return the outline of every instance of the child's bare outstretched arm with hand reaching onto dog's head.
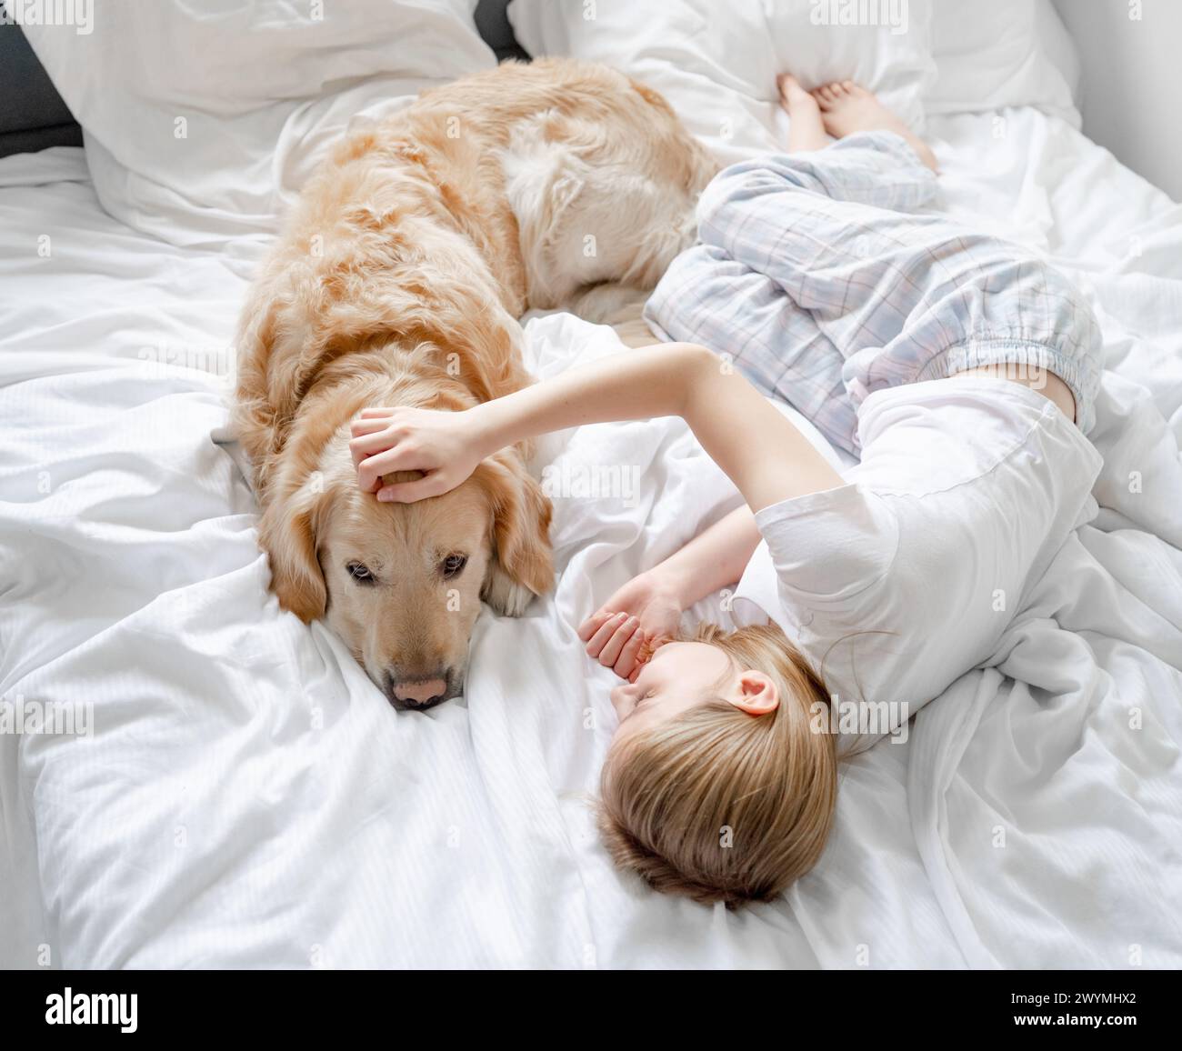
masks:
<path fill-rule="evenodd" d="M 461 413 L 366 409 L 350 448 L 362 488 L 411 501 L 455 488 L 485 456 L 538 434 L 654 416 L 683 417 L 752 511 L 842 485 L 741 374 L 689 343 L 613 355 Z M 426 476 L 383 486 L 382 475 L 394 471 Z"/>

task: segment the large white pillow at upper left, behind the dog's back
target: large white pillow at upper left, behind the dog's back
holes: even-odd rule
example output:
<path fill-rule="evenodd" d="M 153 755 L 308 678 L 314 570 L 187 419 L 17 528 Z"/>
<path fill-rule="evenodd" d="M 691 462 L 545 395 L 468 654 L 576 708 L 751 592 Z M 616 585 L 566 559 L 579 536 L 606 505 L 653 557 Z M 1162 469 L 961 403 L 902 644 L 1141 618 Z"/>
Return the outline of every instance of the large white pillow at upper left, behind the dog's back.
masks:
<path fill-rule="evenodd" d="M 152 0 L 96 5 L 89 34 L 25 33 L 83 126 L 112 215 L 256 257 L 355 115 L 496 64 L 475 2 Z"/>

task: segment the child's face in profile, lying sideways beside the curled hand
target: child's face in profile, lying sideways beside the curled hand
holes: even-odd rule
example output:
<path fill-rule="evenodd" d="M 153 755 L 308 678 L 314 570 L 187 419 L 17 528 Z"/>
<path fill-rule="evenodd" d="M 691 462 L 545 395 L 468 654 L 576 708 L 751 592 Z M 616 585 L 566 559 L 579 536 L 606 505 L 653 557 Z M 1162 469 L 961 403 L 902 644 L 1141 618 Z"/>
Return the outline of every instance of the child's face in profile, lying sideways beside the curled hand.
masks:
<path fill-rule="evenodd" d="M 707 642 L 667 642 L 641 668 L 635 682 L 611 692 L 619 718 L 616 741 L 625 734 L 649 729 L 700 705 L 709 696 L 726 695 L 728 673 L 738 679 L 730 659 Z M 721 683 L 721 686 L 720 686 Z"/>

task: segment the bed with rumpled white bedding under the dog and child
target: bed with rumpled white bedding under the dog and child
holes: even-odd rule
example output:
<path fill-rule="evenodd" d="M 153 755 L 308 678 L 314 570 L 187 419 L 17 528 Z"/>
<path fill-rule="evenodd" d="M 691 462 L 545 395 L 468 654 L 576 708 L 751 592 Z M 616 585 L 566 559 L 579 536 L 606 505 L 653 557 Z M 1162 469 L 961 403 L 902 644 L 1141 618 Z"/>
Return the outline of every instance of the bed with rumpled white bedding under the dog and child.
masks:
<path fill-rule="evenodd" d="M 732 913 L 656 895 L 613 871 L 593 828 L 612 675 L 574 625 L 739 500 L 680 423 L 541 443 L 535 468 L 563 480 L 557 586 L 522 618 L 481 615 L 462 700 L 396 713 L 329 631 L 279 609 L 227 429 L 236 312 L 325 140 L 496 60 L 467 0 L 426 7 L 427 70 L 378 71 L 381 90 L 333 82 L 324 104 L 260 87 L 266 121 L 291 103 L 278 125 L 204 106 L 190 141 L 210 113 L 234 131 L 194 147 L 225 161 L 200 201 L 104 124 L 125 104 L 124 124 L 151 126 L 143 99 L 112 74 L 98 105 L 95 67 L 66 65 L 77 41 L 30 28 L 87 138 L 0 160 L 0 715 L 59 705 L 90 722 L 0 734 L 0 966 L 1182 966 L 1182 209 L 1077 130 L 1070 41 L 1039 26 L 1019 33 L 1041 41 L 1019 57 L 1028 102 L 1004 71 L 957 99 L 947 52 L 924 69 L 940 28 L 920 2 L 910 17 L 930 26 L 909 46 L 928 59 L 877 85 L 863 54 L 851 67 L 922 108 L 949 210 L 1039 248 L 1095 305 L 1100 510 L 1028 597 L 1008 656 L 923 708 L 905 742 L 844 766 L 832 842 L 781 901 Z M 678 19 L 677 39 L 700 43 L 703 9 L 663 6 L 662 46 Z M 531 52 L 597 57 L 574 15 L 517 0 L 509 18 Z M 366 25 L 377 43 L 405 31 Z M 111 61 L 135 46 L 100 25 L 92 40 Z M 781 141 L 754 96 L 729 129 L 695 126 L 714 118 L 694 91 L 719 83 L 701 56 L 662 65 L 628 40 L 636 53 L 610 58 L 721 158 Z M 168 66 L 138 71 L 143 92 Z M 243 147 L 238 125 L 259 140 Z M 540 376 L 621 349 L 569 313 L 525 331 Z M 694 614 L 726 622 L 726 606 Z"/>

